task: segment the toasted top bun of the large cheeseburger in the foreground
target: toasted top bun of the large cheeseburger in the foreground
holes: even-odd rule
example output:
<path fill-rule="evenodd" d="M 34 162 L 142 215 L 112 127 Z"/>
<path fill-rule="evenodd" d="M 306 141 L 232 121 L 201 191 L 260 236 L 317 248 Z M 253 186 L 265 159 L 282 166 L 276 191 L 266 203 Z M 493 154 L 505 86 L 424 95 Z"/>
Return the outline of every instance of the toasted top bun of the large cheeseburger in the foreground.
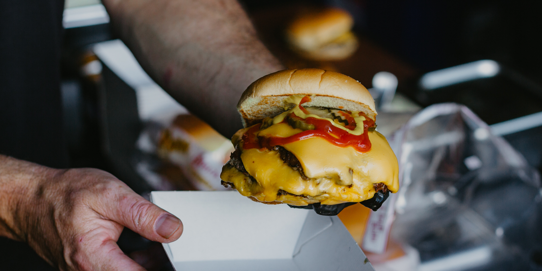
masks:
<path fill-rule="evenodd" d="M 290 95 L 310 95 L 305 107 L 340 108 L 363 112 L 375 120 L 375 101 L 358 81 L 344 74 L 322 69 L 289 69 L 268 74 L 248 86 L 237 104 L 244 127 L 275 117 L 294 105 Z"/>

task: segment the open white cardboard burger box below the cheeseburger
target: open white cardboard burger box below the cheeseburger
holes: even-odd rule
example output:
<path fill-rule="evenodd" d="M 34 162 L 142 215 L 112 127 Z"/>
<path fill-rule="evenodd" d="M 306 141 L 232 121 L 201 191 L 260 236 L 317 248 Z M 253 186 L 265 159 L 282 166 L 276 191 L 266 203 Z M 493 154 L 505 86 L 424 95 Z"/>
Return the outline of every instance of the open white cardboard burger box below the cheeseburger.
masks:
<path fill-rule="evenodd" d="M 163 244 L 177 271 L 375 270 L 336 216 L 250 201 L 237 191 L 155 191 L 183 221 Z"/>

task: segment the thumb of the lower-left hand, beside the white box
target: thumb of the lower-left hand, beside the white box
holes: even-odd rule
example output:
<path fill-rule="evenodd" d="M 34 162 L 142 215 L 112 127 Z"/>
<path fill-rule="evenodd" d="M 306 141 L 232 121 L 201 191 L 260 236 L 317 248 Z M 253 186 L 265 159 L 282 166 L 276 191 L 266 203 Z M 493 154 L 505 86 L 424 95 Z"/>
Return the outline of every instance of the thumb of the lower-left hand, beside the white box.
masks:
<path fill-rule="evenodd" d="M 117 193 L 112 202 L 101 204 L 106 216 L 135 233 L 161 243 L 177 240 L 183 233 L 183 223 L 162 208 L 152 204 L 132 190 Z"/>

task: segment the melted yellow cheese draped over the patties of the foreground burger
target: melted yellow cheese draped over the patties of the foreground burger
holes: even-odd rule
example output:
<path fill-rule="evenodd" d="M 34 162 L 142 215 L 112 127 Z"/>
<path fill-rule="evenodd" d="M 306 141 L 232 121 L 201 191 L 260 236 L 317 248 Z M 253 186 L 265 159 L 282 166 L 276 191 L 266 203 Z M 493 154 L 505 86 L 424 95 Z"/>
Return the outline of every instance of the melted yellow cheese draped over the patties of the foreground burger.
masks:
<path fill-rule="evenodd" d="M 259 135 L 288 137 L 299 131 L 278 123 Z M 369 132 L 369 139 L 372 147 L 367 152 L 338 147 L 321 138 L 283 145 L 298 158 L 309 180 L 302 179 L 298 171 L 283 163 L 278 152 L 268 149 L 248 149 L 241 154 L 245 169 L 256 182 L 228 164 L 221 178 L 233 183 L 243 196 L 292 205 L 362 202 L 374 196 L 373 184 L 377 183 L 384 183 L 391 192 L 396 192 L 399 183 L 395 154 L 382 134 Z M 240 137 L 234 138 L 234 145 L 237 140 Z"/>

